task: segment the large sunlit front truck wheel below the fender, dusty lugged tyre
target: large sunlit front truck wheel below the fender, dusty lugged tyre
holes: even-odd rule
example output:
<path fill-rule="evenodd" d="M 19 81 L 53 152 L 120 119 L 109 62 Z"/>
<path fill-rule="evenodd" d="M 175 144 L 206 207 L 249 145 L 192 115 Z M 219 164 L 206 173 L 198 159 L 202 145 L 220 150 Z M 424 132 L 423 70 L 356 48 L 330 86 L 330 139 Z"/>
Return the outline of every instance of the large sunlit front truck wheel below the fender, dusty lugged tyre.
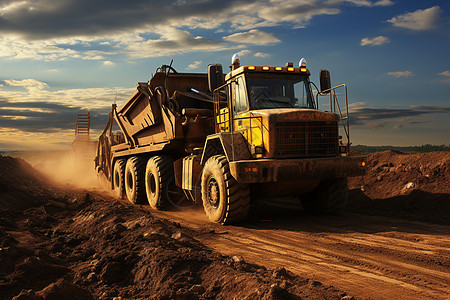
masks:
<path fill-rule="evenodd" d="M 223 155 L 208 159 L 202 174 L 203 208 L 215 223 L 231 224 L 243 221 L 250 208 L 248 184 L 239 184 L 230 174 Z"/>

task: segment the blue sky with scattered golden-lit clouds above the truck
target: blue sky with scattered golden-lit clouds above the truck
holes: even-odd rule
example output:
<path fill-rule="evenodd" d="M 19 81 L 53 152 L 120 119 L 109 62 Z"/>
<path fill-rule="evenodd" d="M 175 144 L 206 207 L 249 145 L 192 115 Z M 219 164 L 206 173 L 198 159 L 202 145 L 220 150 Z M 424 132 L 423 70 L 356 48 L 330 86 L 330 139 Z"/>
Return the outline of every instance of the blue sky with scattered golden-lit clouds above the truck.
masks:
<path fill-rule="evenodd" d="M 88 110 L 97 138 L 157 67 L 234 53 L 328 69 L 353 145 L 450 144 L 448 0 L 0 0 L 0 151 L 65 149 Z"/>

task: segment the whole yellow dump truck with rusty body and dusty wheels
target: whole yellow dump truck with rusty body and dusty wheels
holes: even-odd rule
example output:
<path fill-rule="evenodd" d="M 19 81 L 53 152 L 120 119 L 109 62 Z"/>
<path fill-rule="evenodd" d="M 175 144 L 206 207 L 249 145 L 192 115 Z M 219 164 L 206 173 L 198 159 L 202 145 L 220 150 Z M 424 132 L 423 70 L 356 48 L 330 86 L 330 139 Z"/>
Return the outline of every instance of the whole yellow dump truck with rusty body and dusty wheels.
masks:
<path fill-rule="evenodd" d="M 321 70 L 317 88 L 305 59 L 240 66 L 234 55 L 230 69 L 178 73 L 170 64 L 139 82 L 122 107 L 112 106 L 97 172 L 132 203 L 201 203 L 220 224 L 243 221 L 257 197 L 298 196 L 307 212 L 341 212 L 347 178 L 365 166 L 350 155 L 347 86 L 331 87 Z"/>

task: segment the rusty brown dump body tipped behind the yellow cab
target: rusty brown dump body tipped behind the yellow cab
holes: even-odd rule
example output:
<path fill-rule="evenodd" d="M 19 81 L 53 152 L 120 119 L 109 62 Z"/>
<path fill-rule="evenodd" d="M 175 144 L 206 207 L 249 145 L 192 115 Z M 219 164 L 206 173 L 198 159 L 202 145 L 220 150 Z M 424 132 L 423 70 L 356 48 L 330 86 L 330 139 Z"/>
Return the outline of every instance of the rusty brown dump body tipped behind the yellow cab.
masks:
<path fill-rule="evenodd" d="M 122 107 L 113 105 L 99 138 L 97 171 L 112 182 L 117 159 L 161 151 L 179 157 L 202 147 L 214 132 L 207 92 L 206 74 L 160 71 L 149 82 L 139 82 Z M 113 131 L 114 121 L 120 132 Z"/>

